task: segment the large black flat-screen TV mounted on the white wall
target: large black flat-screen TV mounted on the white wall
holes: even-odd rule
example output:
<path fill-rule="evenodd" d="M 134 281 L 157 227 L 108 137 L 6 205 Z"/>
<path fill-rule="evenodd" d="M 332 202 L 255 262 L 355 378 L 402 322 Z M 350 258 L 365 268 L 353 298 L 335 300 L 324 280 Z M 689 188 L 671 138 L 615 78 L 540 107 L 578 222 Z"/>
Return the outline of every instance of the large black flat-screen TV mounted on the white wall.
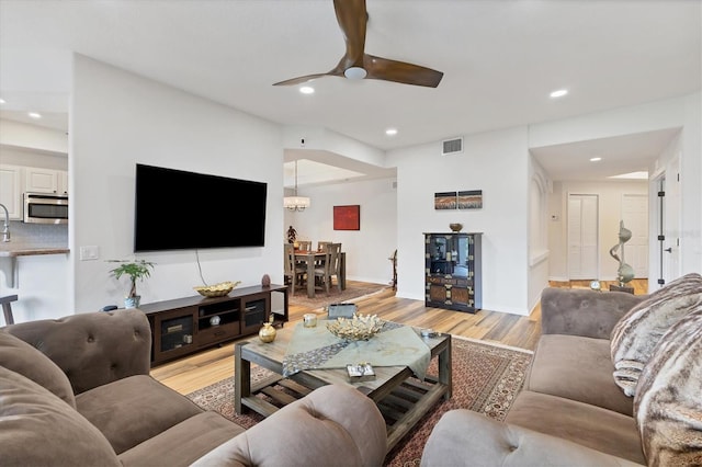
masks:
<path fill-rule="evenodd" d="M 134 251 L 263 247 L 268 184 L 137 163 Z"/>

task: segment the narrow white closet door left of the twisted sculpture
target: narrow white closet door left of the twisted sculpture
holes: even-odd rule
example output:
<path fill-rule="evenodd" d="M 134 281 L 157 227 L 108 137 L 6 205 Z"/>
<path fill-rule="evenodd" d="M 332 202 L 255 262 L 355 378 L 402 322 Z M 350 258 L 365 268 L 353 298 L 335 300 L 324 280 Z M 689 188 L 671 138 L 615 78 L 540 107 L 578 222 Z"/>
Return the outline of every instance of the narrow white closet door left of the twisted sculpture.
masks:
<path fill-rule="evenodd" d="M 568 195 L 568 275 L 570 280 L 597 278 L 598 195 Z"/>

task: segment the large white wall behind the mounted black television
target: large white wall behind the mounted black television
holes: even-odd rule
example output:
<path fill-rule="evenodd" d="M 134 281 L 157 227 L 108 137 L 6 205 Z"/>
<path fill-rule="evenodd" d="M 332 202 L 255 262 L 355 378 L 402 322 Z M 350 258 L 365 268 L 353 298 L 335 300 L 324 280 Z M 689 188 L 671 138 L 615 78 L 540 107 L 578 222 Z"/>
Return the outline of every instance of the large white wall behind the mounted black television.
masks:
<path fill-rule="evenodd" d="M 260 284 L 264 273 L 282 283 L 282 130 L 270 122 L 77 55 L 70 113 L 71 215 L 69 247 L 75 288 L 69 309 L 92 311 L 120 304 L 126 283 L 106 259 L 133 257 L 135 163 L 216 173 L 268 183 L 264 248 L 201 250 L 205 281 Z M 188 186 L 165 186 L 174 198 Z M 223 203 L 234 228 L 246 228 L 245 201 Z M 183 213 L 176 228 L 197 228 Z M 78 261 L 80 247 L 100 248 L 98 261 Z M 143 303 L 193 295 L 201 285 L 195 251 L 144 253 L 157 263 L 137 285 Z"/>

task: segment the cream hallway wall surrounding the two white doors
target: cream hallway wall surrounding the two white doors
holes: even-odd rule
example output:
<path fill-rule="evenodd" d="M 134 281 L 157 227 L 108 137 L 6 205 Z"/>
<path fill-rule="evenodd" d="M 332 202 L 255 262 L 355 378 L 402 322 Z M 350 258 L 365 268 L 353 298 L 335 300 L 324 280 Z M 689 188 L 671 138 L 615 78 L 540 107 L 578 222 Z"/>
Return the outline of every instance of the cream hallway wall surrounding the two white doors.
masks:
<path fill-rule="evenodd" d="M 619 242 L 619 223 L 622 218 L 622 196 L 624 194 L 648 194 L 646 181 L 612 182 L 555 182 L 553 193 L 548 196 L 548 214 L 556 220 L 548 223 L 550 278 L 568 281 L 568 195 L 598 195 L 598 263 L 601 281 L 616 280 L 619 262 L 610 257 L 609 251 Z M 650 208 L 649 208 L 650 210 Z M 649 240 L 650 242 L 650 240 Z"/>

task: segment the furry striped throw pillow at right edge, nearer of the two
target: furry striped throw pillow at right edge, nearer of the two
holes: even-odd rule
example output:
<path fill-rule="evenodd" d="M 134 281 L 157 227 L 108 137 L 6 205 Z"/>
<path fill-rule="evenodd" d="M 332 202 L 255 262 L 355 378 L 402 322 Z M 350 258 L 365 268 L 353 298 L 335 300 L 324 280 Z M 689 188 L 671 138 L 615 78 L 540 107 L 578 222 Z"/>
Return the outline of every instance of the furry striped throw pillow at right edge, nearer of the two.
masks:
<path fill-rule="evenodd" d="M 664 334 L 634 413 L 648 465 L 702 465 L 702 305 Z"/>

